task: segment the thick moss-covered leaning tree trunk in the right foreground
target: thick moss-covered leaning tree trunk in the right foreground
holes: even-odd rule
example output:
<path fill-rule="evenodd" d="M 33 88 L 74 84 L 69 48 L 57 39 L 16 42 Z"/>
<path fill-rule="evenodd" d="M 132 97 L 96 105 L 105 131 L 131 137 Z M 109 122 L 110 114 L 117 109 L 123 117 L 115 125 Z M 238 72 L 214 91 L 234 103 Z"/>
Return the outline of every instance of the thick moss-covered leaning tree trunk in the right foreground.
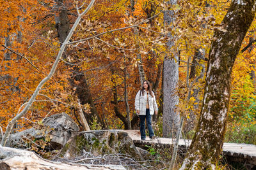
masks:
<path fill-rule="evenodd" d="M 255 6 L 255 0 L 232 1 L 222 22 L 224 30 L 214 32 L 200 119 L 180 169 L 216 168 L 227 125 L 232 67 L 252 24 Z"/>

